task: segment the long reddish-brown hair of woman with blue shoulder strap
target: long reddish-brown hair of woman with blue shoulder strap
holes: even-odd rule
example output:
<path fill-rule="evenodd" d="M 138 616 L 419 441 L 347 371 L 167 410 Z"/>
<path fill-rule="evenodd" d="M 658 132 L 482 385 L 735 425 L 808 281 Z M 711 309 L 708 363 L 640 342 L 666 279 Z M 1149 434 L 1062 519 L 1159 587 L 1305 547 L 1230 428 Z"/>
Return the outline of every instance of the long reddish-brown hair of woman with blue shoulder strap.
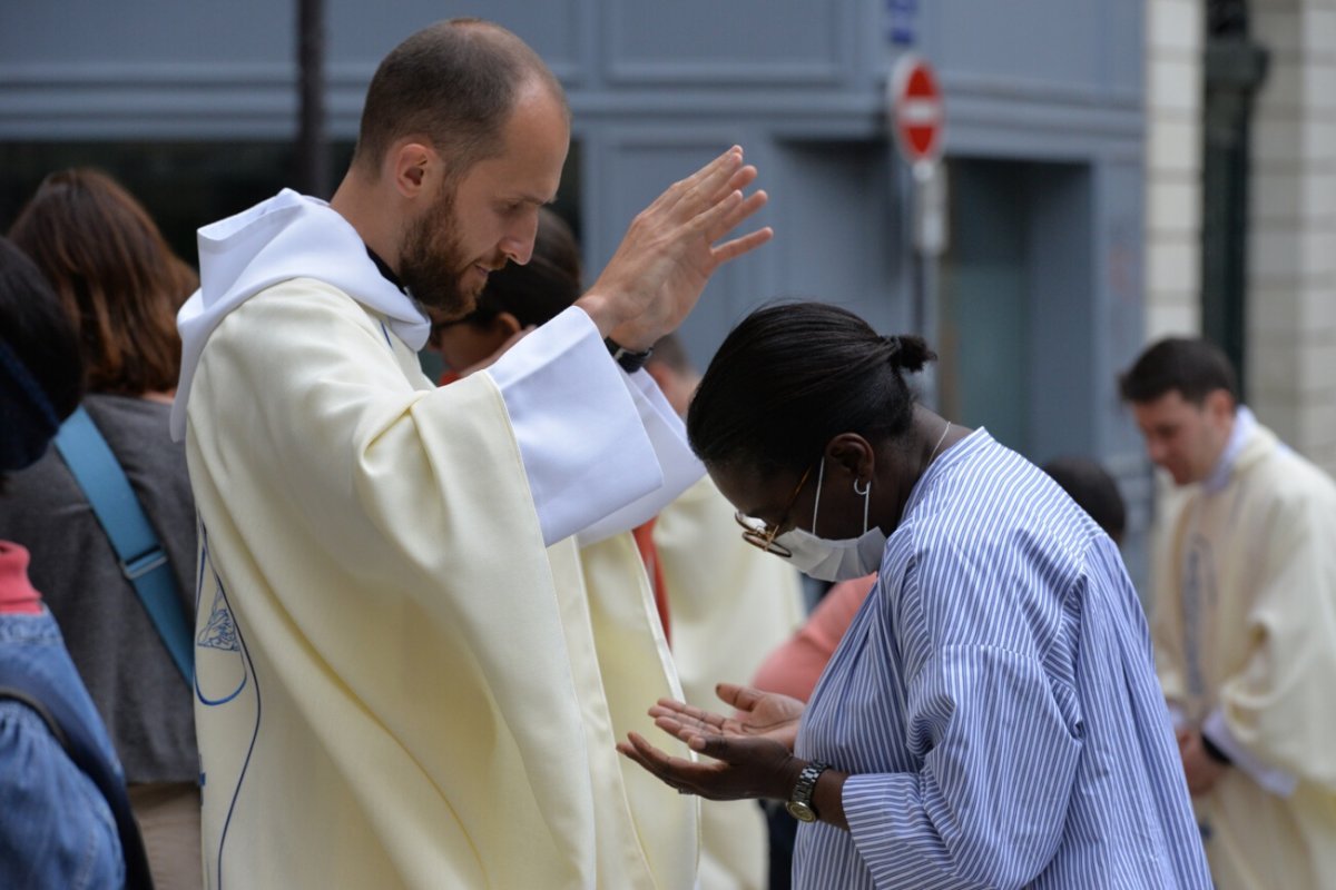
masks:
<path fill-rule="evenodd" d="M 79 327 L 91 392 L 138 396 L 176 386 L 176 310 L 199 278 L 130 192 L 91 169 L 52 173 L 9 238 Z"/>

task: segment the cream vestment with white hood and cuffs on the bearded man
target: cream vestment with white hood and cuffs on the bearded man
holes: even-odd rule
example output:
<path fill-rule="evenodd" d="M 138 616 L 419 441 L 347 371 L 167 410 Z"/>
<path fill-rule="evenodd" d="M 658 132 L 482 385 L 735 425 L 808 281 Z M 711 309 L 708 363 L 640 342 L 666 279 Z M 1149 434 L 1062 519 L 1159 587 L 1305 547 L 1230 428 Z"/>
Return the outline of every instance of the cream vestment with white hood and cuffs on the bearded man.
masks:
<path fill-rule="evenodd" d="M 689 475 L 655 460 L 644 383 L 569 310 L 436 388 L 406 298 L 290 192 L 202 230 L 200 256 L 175 420 L 208 886 L 692 887 L 695 799 L 613 747 L 680 695 L 613 534 Z"/>

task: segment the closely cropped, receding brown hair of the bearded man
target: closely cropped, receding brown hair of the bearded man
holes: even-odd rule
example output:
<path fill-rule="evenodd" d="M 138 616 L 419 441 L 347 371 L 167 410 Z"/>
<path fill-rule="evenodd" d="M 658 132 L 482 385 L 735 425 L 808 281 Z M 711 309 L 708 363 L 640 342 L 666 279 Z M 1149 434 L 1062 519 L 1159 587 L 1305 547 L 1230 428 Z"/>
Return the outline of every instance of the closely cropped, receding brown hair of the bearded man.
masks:
<path fill-rule="evenodd" d="M 565 101 L 538 55 L 501 25 L 481 19 L 428 25 L 375 69 L 353 164 L 375 173 L 395 140 L 422 135 L 462 175 L 501 152 L 516 93 L 534 79 Z"/>

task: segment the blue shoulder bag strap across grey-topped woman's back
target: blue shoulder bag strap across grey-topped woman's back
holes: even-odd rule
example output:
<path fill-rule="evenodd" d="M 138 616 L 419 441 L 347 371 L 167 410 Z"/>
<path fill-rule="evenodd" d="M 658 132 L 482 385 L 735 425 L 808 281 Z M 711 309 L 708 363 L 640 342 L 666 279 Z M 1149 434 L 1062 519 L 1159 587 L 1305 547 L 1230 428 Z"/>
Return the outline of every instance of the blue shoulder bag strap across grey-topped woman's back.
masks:
<path fill-rule="evenodd" d="M 120 571 L 135 586 L 158 635 L 176 662 L 176 670 L 186 686 L 194 686 L 194 634 L 186 620 L 167 552 L 148 524 L 143 507 L 126 479 L 126 471 L 120 468 L 116 455 L 83 406 L 60 427 L 56 448 L 92 504 L 98 522 L 120 559 Z"/>

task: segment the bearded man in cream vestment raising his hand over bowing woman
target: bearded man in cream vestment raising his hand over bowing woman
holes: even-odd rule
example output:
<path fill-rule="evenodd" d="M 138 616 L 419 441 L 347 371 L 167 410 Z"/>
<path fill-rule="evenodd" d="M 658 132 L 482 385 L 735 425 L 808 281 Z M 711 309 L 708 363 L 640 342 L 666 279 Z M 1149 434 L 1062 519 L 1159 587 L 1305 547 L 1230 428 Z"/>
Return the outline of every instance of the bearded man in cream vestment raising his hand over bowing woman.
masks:
<path fill-rule="evenodd" d="M 528 260 L 568 144 L 522 41 L 441 23 L 382 61 L 329 204 L 285 191 L 200 230 L 174 427 L 210 886 L 695 883 L 695 802 L 613 750 L 676 690 L 648 588 L 587 578 L 574 535 L 700 475 L 637 356 L 768 239 L 721 240 L 766 197 L 725 152 L 574 307 L 436 388 L 421 307 L 462 316 Z"/>

